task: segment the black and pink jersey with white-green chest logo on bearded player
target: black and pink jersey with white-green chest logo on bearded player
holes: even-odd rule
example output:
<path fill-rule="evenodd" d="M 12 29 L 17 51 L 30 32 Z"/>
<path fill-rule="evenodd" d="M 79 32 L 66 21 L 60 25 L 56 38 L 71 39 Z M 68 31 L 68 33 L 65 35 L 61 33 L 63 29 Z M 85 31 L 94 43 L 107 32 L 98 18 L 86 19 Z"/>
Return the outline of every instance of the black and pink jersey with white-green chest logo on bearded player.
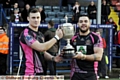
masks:
<path fill-rule="evenodd" d="M 90 32 L 87 36 L 76 34 L 71 39 L 71 44 L 76 51 L 82 51 L 85 55 L 94 54 L 94 47 L 103 48 L 102 38 L 94 32 Z M 95 72 L 95 62 L 81 59 L 72 60 L 72 74 Z"/>

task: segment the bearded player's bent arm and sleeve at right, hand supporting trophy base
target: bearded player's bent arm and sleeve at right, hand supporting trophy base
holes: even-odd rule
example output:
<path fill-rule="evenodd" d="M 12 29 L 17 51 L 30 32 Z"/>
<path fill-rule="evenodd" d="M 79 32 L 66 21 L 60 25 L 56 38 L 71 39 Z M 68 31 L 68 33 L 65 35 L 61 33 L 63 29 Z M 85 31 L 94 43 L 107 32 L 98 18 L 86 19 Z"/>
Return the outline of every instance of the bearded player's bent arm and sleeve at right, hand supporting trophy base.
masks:
<path fill-rule="evenodd" d="M 83 53 L 78 52 L 78 54 L 74 58 L 88 61 L 101 61 L 103 54 L 103 42 L 100 36 L 97 43 L 94 44 L 93 50 L 94 53 L 91 55 L 84 55 Z"/>

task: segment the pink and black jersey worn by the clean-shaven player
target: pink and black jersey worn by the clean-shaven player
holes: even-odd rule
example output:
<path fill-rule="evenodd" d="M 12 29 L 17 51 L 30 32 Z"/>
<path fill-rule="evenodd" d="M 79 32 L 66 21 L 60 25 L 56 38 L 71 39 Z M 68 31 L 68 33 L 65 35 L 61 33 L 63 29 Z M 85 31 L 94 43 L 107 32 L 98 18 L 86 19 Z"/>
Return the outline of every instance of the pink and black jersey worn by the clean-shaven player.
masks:
<path fill-rule="evenodd" d="M 30 47 L 36 40 L 43 43 L 43 34 L 35 32 L 30 28 L 25 28 L 21 33 L 19 41 L 23 51 L 21 75 L 35 75 L 37 73 L 45 74 L 46 66 L 44 54 Z"/>

